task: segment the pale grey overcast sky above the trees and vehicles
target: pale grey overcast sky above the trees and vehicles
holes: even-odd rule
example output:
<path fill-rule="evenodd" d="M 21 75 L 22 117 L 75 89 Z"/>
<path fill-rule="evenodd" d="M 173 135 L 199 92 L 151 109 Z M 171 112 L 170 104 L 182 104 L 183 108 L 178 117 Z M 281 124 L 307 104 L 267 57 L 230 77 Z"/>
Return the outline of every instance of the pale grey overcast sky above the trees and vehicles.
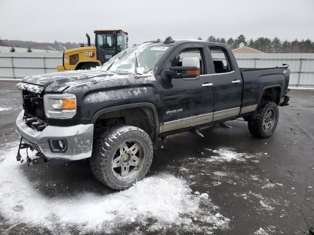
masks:
<path fill-rule="evenodd" d="M 94 41 L 94 29 L 129 32 L 130 45 L 167 36 L 310 38 L 314 0 L 0 0 L 0 37 Z"/>

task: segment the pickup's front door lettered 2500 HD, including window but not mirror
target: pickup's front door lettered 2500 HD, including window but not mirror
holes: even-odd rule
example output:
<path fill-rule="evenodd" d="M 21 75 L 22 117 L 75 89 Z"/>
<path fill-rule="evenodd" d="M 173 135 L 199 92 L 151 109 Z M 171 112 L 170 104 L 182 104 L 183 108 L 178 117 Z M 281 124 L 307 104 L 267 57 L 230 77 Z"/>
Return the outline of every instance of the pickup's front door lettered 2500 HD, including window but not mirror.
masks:
<path fill-rule="evenodd" d="M 171 66 L 182 66 L 183 58 L 200 59 L 200 75 L 171 79 L 164 73 Z M 213 77 L 207 75 L 209 55 L 202 44 L 176 48 L 165 62 L 160 79 L 163 126 L 160 133 L 171 132 L 212 121 Z"/>

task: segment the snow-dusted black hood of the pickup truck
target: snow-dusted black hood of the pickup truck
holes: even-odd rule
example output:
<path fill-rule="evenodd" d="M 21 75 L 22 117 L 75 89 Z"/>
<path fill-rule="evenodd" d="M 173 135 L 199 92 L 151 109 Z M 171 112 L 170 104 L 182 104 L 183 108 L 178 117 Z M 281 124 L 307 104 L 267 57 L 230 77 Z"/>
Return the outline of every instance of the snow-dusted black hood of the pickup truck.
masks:
<path fill-rule="evenodd" d="M 100 70 L 64 71 L 28 76 L 22 79 L 22 82 L 43 86 L 46 93 L 60 93 L 70 86 L 81 83 L 121 79 L 124 77 L 135 78 L 135 74 Z"/>

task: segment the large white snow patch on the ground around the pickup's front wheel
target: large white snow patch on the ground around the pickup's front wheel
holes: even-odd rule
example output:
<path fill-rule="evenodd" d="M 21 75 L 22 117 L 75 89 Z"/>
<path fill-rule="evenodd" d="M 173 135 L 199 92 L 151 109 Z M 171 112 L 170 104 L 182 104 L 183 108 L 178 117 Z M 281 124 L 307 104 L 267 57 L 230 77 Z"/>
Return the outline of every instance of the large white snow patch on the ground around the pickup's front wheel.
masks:
<path fill-rule="evenodd" d="M 217 211 L 207 193 L 194 194 L 183 179 L 172 175 L 147 177 L 127 190 L 106 195 L 85 192 L 48 198 L 16 162 L 17 145 L 14 142 L 0 149 L 0 213 L 10 223 L 22 222 L 61 234 L 71 226 L 82 233 L 110 234 L 134 222 L 147 226 L 151 218 L 157 222 L 148 226 L 150 232 L 177 226 L 187 232 L 212 233 L 213 229 L 228 227 L 229 219 Z M 206 206 L 202 209 L 201 205 Z"/>

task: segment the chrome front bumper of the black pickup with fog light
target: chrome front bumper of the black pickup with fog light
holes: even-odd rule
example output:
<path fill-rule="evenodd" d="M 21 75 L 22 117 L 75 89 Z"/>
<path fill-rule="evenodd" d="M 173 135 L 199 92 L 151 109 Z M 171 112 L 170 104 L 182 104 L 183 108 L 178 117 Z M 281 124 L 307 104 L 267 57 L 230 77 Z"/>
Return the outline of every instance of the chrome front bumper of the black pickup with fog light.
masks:
<path fill-rule="evenodd" d="M 37 152 L 51 160 L 74 161 L 92 155 L 93 124 L 76 126 L 47 126 L 43 131 L 26 125 L 22 111 L 17 120 L 17 134 Z M 61 142 L 59 142 L 61 141 Z M 59 144 L 60 143 L 60 144 Z"/>

